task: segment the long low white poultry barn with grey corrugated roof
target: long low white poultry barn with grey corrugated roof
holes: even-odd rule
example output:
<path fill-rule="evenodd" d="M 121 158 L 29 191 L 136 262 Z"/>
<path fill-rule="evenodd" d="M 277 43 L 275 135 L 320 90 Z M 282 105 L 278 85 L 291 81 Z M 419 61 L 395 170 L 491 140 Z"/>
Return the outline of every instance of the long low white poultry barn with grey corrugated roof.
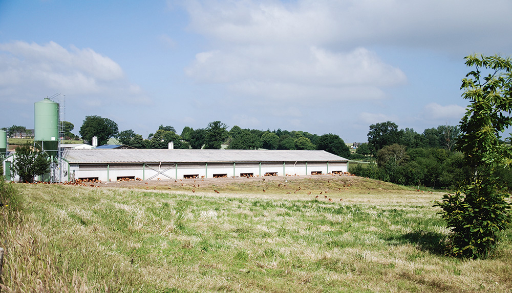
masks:
<path fill-rule="evenodd" d="M 114 181 L 338 174 L 348 160 L 325 151 L 69 149 L 65 177 Z"/>

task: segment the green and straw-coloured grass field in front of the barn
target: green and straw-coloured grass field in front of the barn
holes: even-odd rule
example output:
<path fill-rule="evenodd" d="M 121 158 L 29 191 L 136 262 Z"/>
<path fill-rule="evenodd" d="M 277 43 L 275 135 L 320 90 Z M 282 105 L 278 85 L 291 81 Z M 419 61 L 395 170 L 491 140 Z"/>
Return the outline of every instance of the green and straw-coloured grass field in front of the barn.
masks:
<path fill-rule="evenodd" d="M 0 228 L 4 289 L 512 291 L 510 231 L 493 259 L 444 255 L 448 231 L 432 207 L 442 193 L 345 176 L 242 180 L 195 192 L 192 181 L 150 190 L 12 184 L 23 212 Z"/>

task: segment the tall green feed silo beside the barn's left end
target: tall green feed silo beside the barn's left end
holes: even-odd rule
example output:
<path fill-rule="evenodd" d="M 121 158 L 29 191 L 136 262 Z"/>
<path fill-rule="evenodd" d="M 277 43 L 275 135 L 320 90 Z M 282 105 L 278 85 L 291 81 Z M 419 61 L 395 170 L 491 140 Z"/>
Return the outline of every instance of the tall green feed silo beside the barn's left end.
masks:
<path fill-rule="evenodd" d="M 59 104 L 46 98 L 34 103 L 34 141 L 54 158 L 59 147 Z"/>

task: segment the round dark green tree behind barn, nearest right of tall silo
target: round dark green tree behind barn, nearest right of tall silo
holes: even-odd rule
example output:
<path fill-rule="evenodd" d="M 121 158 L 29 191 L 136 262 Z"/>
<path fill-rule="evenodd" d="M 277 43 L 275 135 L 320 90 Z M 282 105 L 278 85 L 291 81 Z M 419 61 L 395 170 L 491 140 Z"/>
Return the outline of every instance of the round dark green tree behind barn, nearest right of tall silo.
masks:
<path fill-rule="evenodd" d="M 89 142 L 92 141 L 93 136 L 98 138 L 98 145 L 106 144 L 109 138 L 117 136 L 119 128 L 117 123 L 108 118 L 92 115 L 86 116 L 83 124 L 80 127 L 80 135 L 82 139 Z"/>

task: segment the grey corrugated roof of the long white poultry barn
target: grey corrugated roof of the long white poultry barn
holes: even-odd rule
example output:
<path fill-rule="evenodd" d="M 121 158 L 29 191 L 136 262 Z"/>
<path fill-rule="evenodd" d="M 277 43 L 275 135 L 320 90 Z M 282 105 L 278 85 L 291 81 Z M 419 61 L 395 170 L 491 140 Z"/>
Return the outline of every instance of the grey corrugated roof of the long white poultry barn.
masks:
<path fill-rule="evenodd" d="M 348 161 L 326 151 L 70 149 L 64 156 L 70 163 Z"/>

